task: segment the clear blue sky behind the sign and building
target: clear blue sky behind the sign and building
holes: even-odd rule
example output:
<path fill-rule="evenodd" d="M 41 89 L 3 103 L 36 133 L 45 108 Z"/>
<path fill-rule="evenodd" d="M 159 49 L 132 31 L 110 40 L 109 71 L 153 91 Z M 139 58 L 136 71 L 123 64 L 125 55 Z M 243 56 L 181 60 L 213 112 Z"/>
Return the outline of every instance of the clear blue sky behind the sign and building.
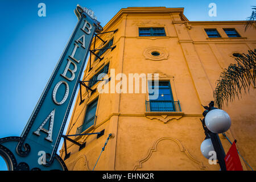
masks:
<path fill-rule="evenodd" d="M 46 17 L 38 16 L 41 2 L 46 4 Z M 216 17 L 208 15 L 212 2 L 217 5 Z M 184 7 L 189 20 L 245 20 L 255 0 L 0 0 L 0 138 L 22 133 L 77 23 L 77 4 L 92 9 L 104 26 L 121 8 L 134 6 Z M 4 169 L 0 157 L 0 170 Z"/>

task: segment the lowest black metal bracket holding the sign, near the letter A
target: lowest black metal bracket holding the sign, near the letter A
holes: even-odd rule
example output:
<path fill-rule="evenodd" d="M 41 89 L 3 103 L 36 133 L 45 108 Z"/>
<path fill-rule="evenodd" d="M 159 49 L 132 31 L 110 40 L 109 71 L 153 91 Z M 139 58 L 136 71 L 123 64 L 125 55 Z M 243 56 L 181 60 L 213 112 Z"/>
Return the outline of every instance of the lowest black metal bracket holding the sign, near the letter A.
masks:
<path fill-rule="evenodd" d="M 68 138 L 68 137 L 75 137 L 75 136 L 81 136 L 81 135 L 97 135 L 97 139 L 100 138 L 102 135 L 104 135 L 105 129 L 98 132 L 98 133 L 84 133 L 84 134 L 75 134 L 75 135 L 62 135 L 62 137 L 64 138 L 64 149 L 65 149 L 65 157 L 64 160 L 68 159 L 70 156 L 71 152 L 67 152 L 67 140 L 69 140 L 69 142 L 72 142 L 73 144 L 76 144 L 77 146 L 79 146 L 79 151 L 82 150 L 82 148 L 85 147 L 86 142 L 84 143 L 79 143 L 76 142 L 75 140 Z"/>

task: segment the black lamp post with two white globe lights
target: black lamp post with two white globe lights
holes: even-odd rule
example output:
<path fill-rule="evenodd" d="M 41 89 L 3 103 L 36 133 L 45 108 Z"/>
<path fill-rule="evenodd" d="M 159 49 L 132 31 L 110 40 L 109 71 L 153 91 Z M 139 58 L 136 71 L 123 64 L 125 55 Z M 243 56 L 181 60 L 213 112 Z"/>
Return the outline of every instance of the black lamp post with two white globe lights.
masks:
<path fill-rule="evenodd" d="M 206 158 L 209 159 L 209 151 L 214 150 L 216 152 L 221 171 L 226 171 L 226 164 L 224 160 L 226 154 L 218 134 L 224 133 L 230 128 L 230 117 L 224 110 L 214 107 L 213 101 L 210 102 L 209 107 L 203 107 L 205 109 L 203 112 L 204 119 L 201 119 L 201 122 L 203 124 L 206 137 L 201 144 L 201 152 Z"/>

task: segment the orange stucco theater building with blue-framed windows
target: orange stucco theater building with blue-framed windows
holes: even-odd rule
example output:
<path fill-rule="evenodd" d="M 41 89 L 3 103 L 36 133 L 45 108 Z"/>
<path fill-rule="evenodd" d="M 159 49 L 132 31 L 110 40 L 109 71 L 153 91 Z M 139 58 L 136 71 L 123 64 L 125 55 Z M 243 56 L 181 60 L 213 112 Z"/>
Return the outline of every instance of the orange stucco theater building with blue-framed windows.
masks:
<path fill-rule="evenodd" d="M 81 86 L 66 135 L 103 130 L 104 134 L 69 137 L 86 142 L 80 148 L 67 140 L 69 156 L 63 144 L 60 156 L 69 170 L 220 169 L 218 164 L 209 164 L 200 151 L 205 138 L 201 105 L 214 100 L 216 81 L 234 63 L 234 55 L 256 48 L 256 34 L 253 28 L 244 31 L 245 21 L 189 21 L 183 11 L 128 7 L 105 25 L 104 32 L 117 31 L 98 35 L 105 44 L 96 39 L 96 47 L 105 49 L 95 52 L 100 59 L 91 55 L 82 77 L 96 90 L 92 93 Z M 105 81 L 109 93 L 98 92 L 100 73 L 110 77 Z M 131 82 L 129 73 L 138 73 L 139 92 L 136 78 Z M 148 80 L 156 75 L 159 97 L 151 100 Z M 121 92 L 111 90 L 120 85 Z M 251 85 L 250 93 L 222 108 L 232 119 L 225 134 L 232 142 L 237 140 L 243 170 L 256 168 L 255 96 L 255 85 Z M 219 137 L 228 152 L 231 144 L 222 134 Z"/>

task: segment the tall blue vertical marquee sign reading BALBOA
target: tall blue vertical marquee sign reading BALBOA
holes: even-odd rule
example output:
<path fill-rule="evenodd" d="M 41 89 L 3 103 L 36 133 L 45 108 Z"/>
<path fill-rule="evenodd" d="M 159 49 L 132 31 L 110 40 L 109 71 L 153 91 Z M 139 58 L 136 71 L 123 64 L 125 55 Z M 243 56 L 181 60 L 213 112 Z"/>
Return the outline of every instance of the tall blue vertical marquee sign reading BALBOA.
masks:
<path fill-rule="evenodd" d="M 100 22 L 77 5 L 79 22 L 50 77 L 21 137 L 0 139 L 0 155 L 9 170 L 66 170 L 56 154 L 94 32 Z M 43 156 L 47 156 L 43 162 Z"/>

